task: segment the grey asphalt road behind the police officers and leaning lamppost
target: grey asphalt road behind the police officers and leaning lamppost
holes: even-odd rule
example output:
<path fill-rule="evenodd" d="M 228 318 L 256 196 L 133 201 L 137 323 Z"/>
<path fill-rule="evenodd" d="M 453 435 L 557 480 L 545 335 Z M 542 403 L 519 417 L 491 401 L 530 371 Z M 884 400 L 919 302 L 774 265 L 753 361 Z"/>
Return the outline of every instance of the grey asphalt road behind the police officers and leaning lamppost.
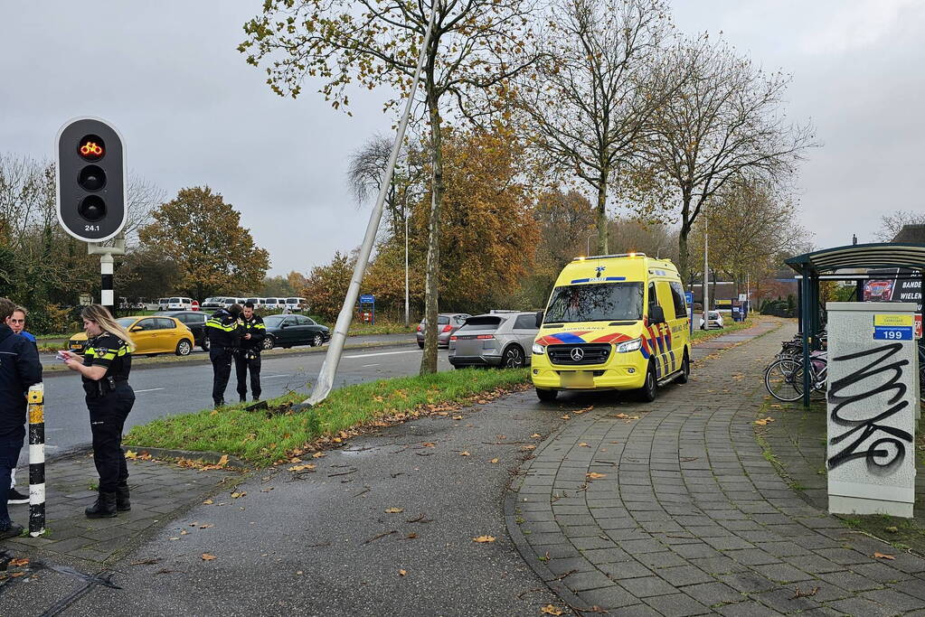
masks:
<path fill-rule="evenodd" d="M 404 335 L 405 339 L 407 338 Z M 381 340 L 383 337 L 376 337 Z M 351 343 L 356 343 L 351 339 Z M 325 354 L 304 353 L 264 357 L 261 370 L 262 398 L 272 398 L 289 391 L 308 393 L 307 384 L 317 379 Z M 144 358 L 138 364 L 143 366 Z M 421 362 L 421 350 L 414 343 L 351 349 L 340 360 L 336 387 L 374 381 L 387 377 L 413 375 Z M 212 365 L 182 362 L 150 369 L 133 369 L 129 379 L 135 390 L 135 406 L 126 422 L 129 428 L 156 417 L 186 414 L 212 406 Z M 450 369 L 447 352 L 439 352 L 438 368 Z M 90 421 L 84 404 L 80 377 L 68 372 L 48 373 L 45 384 L 45 455 L 55 456 L 89 445 Z M 234 369 L 225 391 L 225 400 L 236 402 Z M 250 398 L 250 397 L 249 397 Z M 28 448 L 23 448 L 19 464 L 28 463 Z"/>

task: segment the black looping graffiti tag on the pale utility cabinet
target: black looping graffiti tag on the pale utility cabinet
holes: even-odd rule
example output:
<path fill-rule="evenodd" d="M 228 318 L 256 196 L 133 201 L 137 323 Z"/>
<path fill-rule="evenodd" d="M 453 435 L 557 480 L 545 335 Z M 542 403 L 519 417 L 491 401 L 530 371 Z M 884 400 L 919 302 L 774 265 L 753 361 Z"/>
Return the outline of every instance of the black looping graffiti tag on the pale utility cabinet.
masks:
<path fill-rule="evenodd" d="M 909 405 L 908 401 L 901 401 L 906 394 L 907 388 L 906 384 L 900 381 L 903 377 L 903 367 L 907 366 L 909 361 L 897 360 L 889 364 L 884 364 L 902 348 L 903 345 L 900 343 L 891 343 L 867 351 L 833 358 L 833 362 L 846 362 L 848 360 L 857 360 L 857 358 L 879 355 L 879 357 L 875 357 L 867 366 L 846 375 L 842 379 L 833 381 L 829 389 L 829 403 L 835 405 L 831 413 L 833 423 L 842 427 L 851 427 L 841 435 L 833 437 L 829 440 L 829 443 L 835 445 L 845 442 L 849 437 L 856 436 L 856 439 L 854 439 L 853 442 L 847 443 L 841 452 L 829 458 L 830 469 L 834 469 L 856 458 L 863 458 L 867 462 L 868 471 L 870 471 L 870 473 L 878 476 L 885 476 L 891 473 L 897 466 L 902 465 L 903 460 L 906 458 L 906 444 L 904 442 L 907 442 L 911 446 L 912 435 L 903 429 L 896 429 L 894 427 L 878 424 L 878 422 L 893 416 Z M 890 372 L 893 374 L 887 381 L 882 381 L 882 376 L 878 377 L 881 373 Z M 871 386 L 875 384 L 879 385 L 865 389 L 864 381 L 870 383 Z M 859 389 L 860 391 L 853 394 L 840 394 L 846 388 L 852 386 L 855 386 L 853 390 L 857 391 Z M 858 401 L 863 401 L 871 396 L 880 393 L 888 393 L 890 391 L 895 391 L 887 401 L 887 405 L 891 405 L 890 408 L 877 416 L 852 420 L 842 417 L 840 413 L 843 410 L 847 411 L 846 408 L 849 405 L 853 405 Z M 881 437 L 870 443 L 867 450 L 857 452 L 860 445 L 874 436 L 878 430 L 886 433 L 888 436 Z M 885 447 L 888 445 L 892 445 L 895 448 L 895 453 L 892 456 L 890 450 Z"/>

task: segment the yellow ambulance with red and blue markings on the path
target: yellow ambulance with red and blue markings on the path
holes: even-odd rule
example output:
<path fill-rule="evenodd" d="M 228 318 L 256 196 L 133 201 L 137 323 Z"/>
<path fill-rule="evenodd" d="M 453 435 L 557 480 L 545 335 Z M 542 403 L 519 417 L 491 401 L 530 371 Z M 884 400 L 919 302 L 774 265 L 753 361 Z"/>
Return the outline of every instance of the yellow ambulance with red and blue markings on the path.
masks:
<path fill-rule="evenodd" d="M 643 253 L 579 257 L 562 269 L 533 344 L 541 401 L 563 390 L 635 390 L 645 401 L 690 375 L 690 321 L 677 268 Z"/>

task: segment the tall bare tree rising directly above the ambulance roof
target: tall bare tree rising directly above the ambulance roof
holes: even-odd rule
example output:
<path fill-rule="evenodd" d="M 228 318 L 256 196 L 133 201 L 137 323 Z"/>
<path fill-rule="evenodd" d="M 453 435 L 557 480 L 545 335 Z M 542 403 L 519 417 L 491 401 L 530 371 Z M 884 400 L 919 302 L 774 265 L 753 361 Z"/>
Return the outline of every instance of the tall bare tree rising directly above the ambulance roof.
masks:
<path fill-rule="evenodd" d="M 664 0 L 562 0 L 539 43 L 543 61 L 522 76 L 517 106 L 550 161 L 595 192 L 598 253 L 609 243 L 613 175 L 630 173 L 636 143 L 672 82 L 654 70 L 670 31 Z"/>

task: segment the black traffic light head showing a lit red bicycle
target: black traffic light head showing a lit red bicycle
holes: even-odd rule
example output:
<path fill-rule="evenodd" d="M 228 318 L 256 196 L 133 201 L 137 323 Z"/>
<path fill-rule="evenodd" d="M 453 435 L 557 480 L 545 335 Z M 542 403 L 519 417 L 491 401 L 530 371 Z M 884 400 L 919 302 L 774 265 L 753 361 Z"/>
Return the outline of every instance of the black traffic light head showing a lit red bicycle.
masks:
<path fill-rule="evenodd" d="M 102 242 L 125 226 L 125 151 L 104 120 L 71 120 L 57 135 L 58 221 L 71 236 Z"/>

